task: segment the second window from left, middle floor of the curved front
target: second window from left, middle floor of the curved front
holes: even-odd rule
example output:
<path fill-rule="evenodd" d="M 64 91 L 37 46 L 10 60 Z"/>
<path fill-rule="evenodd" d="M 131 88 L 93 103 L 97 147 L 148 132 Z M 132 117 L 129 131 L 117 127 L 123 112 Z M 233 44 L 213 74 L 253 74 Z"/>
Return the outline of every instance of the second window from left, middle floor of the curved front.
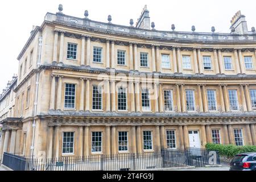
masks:
<path fill-rule="evenodd" d="M 102 110 L 102 87 L 93 85 L 93 110 Z"/>

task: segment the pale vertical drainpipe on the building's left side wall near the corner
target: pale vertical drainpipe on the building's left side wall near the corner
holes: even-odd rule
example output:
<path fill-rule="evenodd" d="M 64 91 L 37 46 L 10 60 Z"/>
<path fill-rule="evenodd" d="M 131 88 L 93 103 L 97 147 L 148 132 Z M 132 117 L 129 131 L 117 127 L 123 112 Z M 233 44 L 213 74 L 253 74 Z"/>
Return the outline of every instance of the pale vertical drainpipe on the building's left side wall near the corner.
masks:
<path fill-rule="evenodd" d="M 39 36 L 39 57 L 38 57 L 38 64 L 37 68 L 40 67 L 41 64 L 41 51 L 42 51 L 42 36 Z M 35 116 L 36 116 L 36 110 L 38 107 L 38 85 L 39 85 L 39 69 L 38 73 L 36 73 L 36 96 L 35 96 L 35 104 L 34 104 L 34 121 L 32 124 L 33 127 L 33 136 L 32 136 L 32 145 L 31 145 L 31 159 L 33 159 L 34 156 L 34 147 L 35 147 Z"/>

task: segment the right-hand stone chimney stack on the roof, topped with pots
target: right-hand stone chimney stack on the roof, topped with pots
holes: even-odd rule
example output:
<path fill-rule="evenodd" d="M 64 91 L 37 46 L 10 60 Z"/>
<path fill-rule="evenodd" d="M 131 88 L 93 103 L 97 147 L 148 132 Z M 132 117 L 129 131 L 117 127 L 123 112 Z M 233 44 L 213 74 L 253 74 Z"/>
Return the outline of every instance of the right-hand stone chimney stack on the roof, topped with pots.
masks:
<path fill-rule="evenodd" d="M 233 16 L 230 21 L 230 31 L 234 30 L 234 34 L 248 34 L 247 22 L 245 20 L 245 15 L 241 14 L 241 11 L 237 11 L 237 13 Z"/>

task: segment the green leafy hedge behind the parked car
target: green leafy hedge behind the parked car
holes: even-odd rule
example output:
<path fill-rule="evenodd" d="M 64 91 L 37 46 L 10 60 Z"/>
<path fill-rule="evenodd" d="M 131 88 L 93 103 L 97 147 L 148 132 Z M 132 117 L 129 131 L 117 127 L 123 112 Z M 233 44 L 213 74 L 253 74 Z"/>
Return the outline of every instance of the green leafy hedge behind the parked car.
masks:
<path fill-rule="evenodd" d="M 256 146 L 235 146 L 233 144 L 223 145 L 207 143 L 205 148 L 207 148 L 207 150 L 218 151 L 221 156 L 229 159 L 233 158 L 236 154 L 256 152 Z"/>

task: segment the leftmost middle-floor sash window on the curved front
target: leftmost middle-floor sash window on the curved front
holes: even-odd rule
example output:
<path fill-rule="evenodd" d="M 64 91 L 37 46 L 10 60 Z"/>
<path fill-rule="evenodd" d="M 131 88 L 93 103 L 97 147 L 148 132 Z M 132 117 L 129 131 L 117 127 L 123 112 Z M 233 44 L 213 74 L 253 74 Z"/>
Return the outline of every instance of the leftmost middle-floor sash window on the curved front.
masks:
<path fill-rule="evenodd" d="M 76 85 L 75 84 L 65 84 L 65 109 L 75 109 L 76 100 Z"/>

